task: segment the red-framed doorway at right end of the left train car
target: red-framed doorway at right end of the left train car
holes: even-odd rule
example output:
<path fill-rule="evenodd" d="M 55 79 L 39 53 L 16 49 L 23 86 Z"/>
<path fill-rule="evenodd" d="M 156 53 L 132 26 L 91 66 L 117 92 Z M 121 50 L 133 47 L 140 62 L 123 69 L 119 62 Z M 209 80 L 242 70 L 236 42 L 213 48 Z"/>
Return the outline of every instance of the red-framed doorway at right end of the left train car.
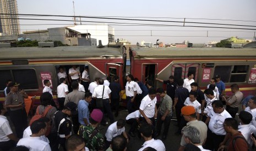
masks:
<path fill-rule="evenodd" d="M 106 75 L 110 76 L 110 82 L 114 81 L 114 77 L 117 75 L 119 77 L 119 82 L 122 79 L 121 77 L 121 65 L 116 63 L 107 63 L 106 64 Z M 120 83 L 122 84 L 122 83 Z"/>

